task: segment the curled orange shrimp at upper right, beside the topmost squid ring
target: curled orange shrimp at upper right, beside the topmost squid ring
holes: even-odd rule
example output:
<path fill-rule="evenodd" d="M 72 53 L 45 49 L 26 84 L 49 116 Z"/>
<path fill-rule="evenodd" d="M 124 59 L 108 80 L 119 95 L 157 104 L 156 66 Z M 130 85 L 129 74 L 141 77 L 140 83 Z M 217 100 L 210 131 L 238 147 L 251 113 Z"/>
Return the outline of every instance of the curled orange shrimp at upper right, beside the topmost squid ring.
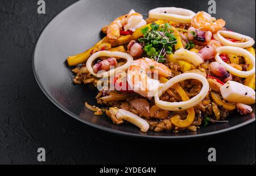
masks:
<path fill-rule="evenodd" d="M 210 16 L 207 12 L 200 11 L 192 18 L 192 26 L 203 31 L 210 31 L 212 33 L 221 30 L 226 25 L 225 20 L 217 19 Z"/>

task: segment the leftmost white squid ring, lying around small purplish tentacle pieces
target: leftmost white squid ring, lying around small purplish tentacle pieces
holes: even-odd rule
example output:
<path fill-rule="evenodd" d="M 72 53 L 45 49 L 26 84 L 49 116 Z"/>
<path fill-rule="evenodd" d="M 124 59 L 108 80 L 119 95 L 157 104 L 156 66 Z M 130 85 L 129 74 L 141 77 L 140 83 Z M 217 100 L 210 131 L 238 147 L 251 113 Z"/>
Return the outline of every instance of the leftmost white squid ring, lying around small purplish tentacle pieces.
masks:
<path fill-rule="evenodd" d="M 119 66 L 118 68 L 115 68 L 113 70 L 109 70 L 108 72 L 94 73 L 92 64 L 93 64 L 93 61 L 96 60 L 96 58 L 98 58 L 98 57 L 120 57 L 120 58 L 125 58 L 127 60 L 127 62 L 126 62 L 126 64 Z M 92 56 L 90 56 L 88 58 L 88 61 L 86 62 L 86 68 L 93 76 L 95 76 L 97 78 L 106 78 L 106 77 L 112 76 L 118 70 L 128 69 L 129 66 L 131 65 L 131 62 L 133 62 L 133 57 L 127 53 L 118 52 L 118 51 L 115 51 L 115 52 L 99 51 L 99 52 L 94 53 Z"/>

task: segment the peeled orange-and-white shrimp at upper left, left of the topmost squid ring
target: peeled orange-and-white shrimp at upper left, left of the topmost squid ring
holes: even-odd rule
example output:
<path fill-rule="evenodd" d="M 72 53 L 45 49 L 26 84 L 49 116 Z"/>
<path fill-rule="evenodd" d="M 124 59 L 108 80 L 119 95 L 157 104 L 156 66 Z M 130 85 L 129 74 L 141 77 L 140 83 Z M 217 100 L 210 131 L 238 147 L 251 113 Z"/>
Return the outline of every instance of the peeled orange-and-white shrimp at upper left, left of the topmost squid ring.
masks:
<path fill-rule="evenodd" d="M 107 36 L 109 39 L 118 39 L 120 36 L 120 29 L 124 28 L 125 31 L 135 31 L 138 28 L 145 26 L 147 23 L 143 19 L 143 16 L 134 10 L 131 10 L 129 14 L 120 16 L 109 24 L 107 30 Z"/>

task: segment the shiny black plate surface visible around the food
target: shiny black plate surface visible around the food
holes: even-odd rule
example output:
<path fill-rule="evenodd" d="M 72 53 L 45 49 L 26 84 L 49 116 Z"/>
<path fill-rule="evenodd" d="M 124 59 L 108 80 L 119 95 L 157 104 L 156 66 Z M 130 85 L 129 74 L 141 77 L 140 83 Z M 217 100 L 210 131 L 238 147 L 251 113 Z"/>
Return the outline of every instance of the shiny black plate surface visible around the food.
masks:
<path fill-rule="evenodd" d="M 216 1 L 217 18 L 224 18 L 229 29 L 255 38 L 255 1 Z M 183 139 L 226 132 L 255 121 L 255 114 L 230 116 L 228 123 L 218 123 L 201 128 L 197 132 L 187 133 L 142 133 L 130 124 L 113 125 L 106 116 L 94 116 L 84 107 L 84 102 L 96 104 L 96 90 L 88 86 L 73 85 L 73 74 L 65 59 L 92 47 L 100 40 L 101 27 L 128 12 L 131 9 L 145 17 L 148 10 L 155 7 L 174 6 L 191 9 L 195 12 L 208 10 L 208 1 L 167 0 L 167 1 L 119 1 L 93 0 L 79 1 L 57 15 L 44 29 L 36 44 L 33 69 L 35 78 L 44 94 L 57 107 L 73 118 L 105 131 L 121 135 Z M 253 106 L 255 112 L 255 105 Z M 108 134 L 106 134 L 108 135 Z"/>

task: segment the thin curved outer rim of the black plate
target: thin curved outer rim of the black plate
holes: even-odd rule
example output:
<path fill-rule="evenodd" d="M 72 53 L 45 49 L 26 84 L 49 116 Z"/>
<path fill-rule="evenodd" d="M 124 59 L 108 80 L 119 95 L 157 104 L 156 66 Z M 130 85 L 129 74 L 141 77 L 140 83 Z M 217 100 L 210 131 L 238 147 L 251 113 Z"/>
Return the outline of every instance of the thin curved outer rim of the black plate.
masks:
<path fill-rule="evenodd" d="M 72 5 L 69 5 L 68 7 L 65 7 L 65 9 L 61 10 L 57 15 L 53 16 L 52 19 L 49 20 L 49 22 L 46 24 L 46 26 L 40 31 L 38 38 L 36 39 L 36 44 L 34 45 L 33 53 L 32 53 L 32 70 L 34 77 L 36 79 L 36 82 L 38 86 L 40 87 L 41 91 L 43 92 L 44 95 L 50 100 L 51 103 L 53 103 L 57 108 L 59 108 L 61 111 L 65 112 L 65 114 L 71 116 L 72 118 L 81 121 L 82 123 L 89 125 L 90 127 L 94 127 L 97 129 L 100 129 L 101 131 L 107 131 L 110 133 L 114 133 L 115 135 L 122 135 L 122 136 L 128 136 L 128 137 L 136 137 L 136 138 L 142 138 L 142 139 L 171 139 L 171 140 L 180 140 L 180 139 L 199 139 L 201 137 L 207 137 L 207 136 L 214 136 L 214 135 L 220 135 L 221 133 L 233 131 L 235 129 L 245 127 L 246 125 L 249 125 L 253 122 L 255 122 L 255 118 L 249 119 L 244 121 L 243 123 L 234 125 L 233 127 L 225 128 L 225 129 L 220 129 L 217 131 L 212 131 L 212 132 L 207 132 L 207 133 L 200 133 L 196 135 L 184 135 L 184 136 L 149 136 L 149 135 L 140 135 L 136 133 L 131 133 L 131 132 L 124 132 L 124 131 L 119 131 L 118 129 L 111 129 L 108 127 L 103 127 L 98 124 L 91 123 L 90 121 L 83 120 L 80 118 L 78 115 L 73 114 L 73 112 L 69 111 L 67 108 L 63 107 L 60 103 L 58 103 L 50 94 L 48 94 L 47 90 L 44 89 L 43 84 L 40 82 L 40 79 L 36 73 L 35 69 L 35 51 L 36 48 L 38 47 L 38 42 L 43 35 L 43 32 L 46 30 L 46 28 L 53 22 L 54 19 L 56 19 L 59 15 L 63 14 L 68 9 L 71 9 L 73 6 L 75 6 L 77 3 L 81 3 L 84 1 L 77 1 L 73 3 Z M 139 129 L 138 129 L 139 130 Z"/>

